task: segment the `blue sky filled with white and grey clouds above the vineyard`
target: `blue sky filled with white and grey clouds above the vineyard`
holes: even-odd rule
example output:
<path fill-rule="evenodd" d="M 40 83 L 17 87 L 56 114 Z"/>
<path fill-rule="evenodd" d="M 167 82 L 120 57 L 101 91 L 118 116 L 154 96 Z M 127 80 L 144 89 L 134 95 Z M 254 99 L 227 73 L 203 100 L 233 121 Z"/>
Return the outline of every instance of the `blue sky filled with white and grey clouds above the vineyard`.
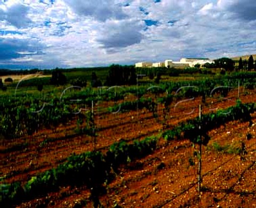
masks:
<path fill-rule="evenodd" d="M 0 0 L 0 68 L 256 54 L 255 0 Z"/>

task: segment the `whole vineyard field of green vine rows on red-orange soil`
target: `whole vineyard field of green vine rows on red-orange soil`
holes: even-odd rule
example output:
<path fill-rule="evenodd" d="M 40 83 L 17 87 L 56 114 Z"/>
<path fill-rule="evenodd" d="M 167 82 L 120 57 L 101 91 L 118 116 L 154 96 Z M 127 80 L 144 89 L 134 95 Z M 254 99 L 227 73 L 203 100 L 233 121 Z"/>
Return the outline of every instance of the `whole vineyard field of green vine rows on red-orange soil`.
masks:
<path fill-rule="evenodd" d="M 242 74 L 10 87 L 0 94 L 0 205 L 256 207 L 253 83 Z"/>

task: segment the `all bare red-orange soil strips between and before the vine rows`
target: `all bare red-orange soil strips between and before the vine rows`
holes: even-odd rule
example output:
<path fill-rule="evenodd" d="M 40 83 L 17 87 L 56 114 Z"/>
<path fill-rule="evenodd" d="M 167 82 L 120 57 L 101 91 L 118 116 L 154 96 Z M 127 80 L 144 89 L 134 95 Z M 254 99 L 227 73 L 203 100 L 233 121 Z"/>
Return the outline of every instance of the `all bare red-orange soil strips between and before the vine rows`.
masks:
<path fill-rule="evenodd" d="M 206 105 L 203 106 L 203 113 L 211 112 L 210 109 L 213 107 L 225 109 L 228 106 L 234 105 L 237 91 L 231 91 L 228 97 L 232 101 L 222 99 L 222 102 L 219 102 L 219 99 L 207 99 Z M 242 102 L 256 102 L 253 91 L 249 95 L 241 94 L 240 99 Z M 176 126 L 181 121 L 197 117 L 197 106 L 200 100 L 200 98 L 196 98 L 194 101 L 182 103 L 179 106 L 180 108 L 175 109 L 175 111 L 173 110 L 175 103 L 172 103 L 170 116 L 167 121 L 168 128 Z M 184 111 L 192 111 L 194 107 L 195 111 L 193 113 L 184 113 Z M 163 106 L 159 107 L 158 119 L 163 121 Z M 165 130 L 159 120 L 154 118 L 151 112 L 146 112 L 145 109 L 119 112 L 117 114 L 97 115 L 95 113 L 95 123 L 99 127 L 96 148 L 104 152 L 111 144 L 120 140 L 131 142 L 134 139 L 157 135 L 159 132 Z M 255 123 L 255 115 L 253 115 L 253 122 Z M 218 142 L 221 145 L 224 145 L 223 141 L 227 141 L 228 143 L 239 142 L 239 140 L 245 138 L 245 135 L 249 131 L 255 137 L 253 131 L 255 130 L 255 126 L 250 129 L 247 126 L 248 123 L 234 121 L 228 123 L 226 127 L 212 130 L 210 132 L 212 140 L 209 145 L 212 142 Z M 86 135 L 77 135 L 75 128 L 76 122 L 73 121 L 69 126 L 59 127 L 56 132 L 45 129 L 37 132 L 33 136 L 4 140 L 4 142 L 1 141 L 1 149 L 4 149 L 3 147 L 10 148 L 17 144 L 27 143 L 27 146 L 21 148 L 21 150 L 7 151 L 2 154 L 1 174 L 3 176 L 6 174 L 5 181 L 25 182 L 38 172 L 57 167 L 58 164 L 65 161 L 71 154 L 92 151 L 92 138 Z M 49 142 L 44 143 L 45 139 Z M 122 207 L 153 207 L 153 205 L 156 205 L 155 207 L 180 207 L 182 204 L 190 204 L 191 207 L 198 207 L 198 203 L 202 203 L 201 207 L 211 207 L 210 202 L 212 200 L 214 201 L 214 198 L 218 199 L 219 204 L 222 202 L 226 203 L 227 198 L 232 194 L 236 197 L 241 193 L 243 194 L 244 189 L 241 189 L 243 187 L 247 187 L 249 192 L 254 192 L 255 187 L 249 186 L 249 179 L 245 179 L 245 182 L 240 179 L 244 184 L 240 181 L 239 183 L 237 182 L 241 174 L 243 176 L 250 176 L 250 171 L 252 174 L 253 168 L 255 168 L 253 165 L 256 147 L 254 146 L 253 139 L 246 140 L 245 142 L 246 146 L 250 148 L 248 148 L 249 154 L 245 156 L 246 160 L 243 163 L 238 160 L 238 155 L 220 154 L 207 149 L 207 147 L 203 149 L 202 160 L 205 166 L 203 166 L 202 173 L 207 173 L 203 181 L 209 181 L 209 184 L 203 182 L 203 185 L 206 189 L 210 190 L 209 192 L 204 192 L 201 198 L 198 198 L 195 190 L 197 165 L 189 165 L 188 162 L 188 159 L 193 157 L 193 148 L 190 142 L 187 140 L 173 141 L 166 145 L 161 140 L 159 148 L 154 154 L 135 162 L 134 166 L 138 166 L 138 169 L 133 170 L 134 168 L 132 167 L 121 168 L 121 172 L 117 178 L 109 185 L 108 193 L 102 196 L 101 202 L 103 204 L 105 203 L 107 207 L 114 205 L 114 203 Z M 226 161 L 229 162 L 225 163 Z M 219 166 L 220 168 L 217 168 Z M 231 172 L 226 173 L 226 170 L 231 170 Z M 230 174 L 232 177 L 229 176 Z M 246 180 L 248 181 L 246 182 Z M 225 190 L 227 192 L 230 186 L 234 186 L 231 192 L 232 194 L 225 196 Z M 218 190 L 215 190 L 215 187 Z M 235 189 L 237 189 L 236 192 L 233 191 Z M 49 207 L 68 207 L 70 203 L 74 204 L 76 199 L 79 201 L 81 198 L 86 199 L 89 197 L 89 191 L 85 187 L 76 190 L 69 190 L 66 187 L 63 188 L 63 192 L 70 192 L 70 196 L 63 198 L 62 195 L 60 196 L 60 193 L 50 194 L 54 205 L 49 205 Z M 248 197 L 252 197 L 252 195 L 254 196 L 254 194 L 249 194 Z M 169 200 L 166 201 L 166 199 Z M 239 196 L 238 199 L 240 200 L 241 197 Z M 37 202 L 31 201 L 21 205 L 21 207 L 28 207 L 29 203 L 37 204 Z M 226 204 L 221 206 L 225 207 Z"/>

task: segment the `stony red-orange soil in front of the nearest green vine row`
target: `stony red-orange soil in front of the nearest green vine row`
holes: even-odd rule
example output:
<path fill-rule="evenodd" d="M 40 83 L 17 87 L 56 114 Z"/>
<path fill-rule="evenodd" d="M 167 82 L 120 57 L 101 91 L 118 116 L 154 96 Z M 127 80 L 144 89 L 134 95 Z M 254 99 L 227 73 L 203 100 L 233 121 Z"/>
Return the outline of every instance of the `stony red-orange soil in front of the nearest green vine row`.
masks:
<path fill-rule="evenodd" d="M 253 115 L 256 123 L 256 115 Z M 227 132 L 233 132 L 230 136 Z M 244 160 L 237 154 L 227 154 L 203 148 L 203 187 L 204 192 L 196 191 L 196 158 L 195 165 L 188 159 L 193 158 L 193 147 L 189 141 L 162 142 L 154 154 L 122 167 L 118 176 L 108 185 L 107 194 L 101 197 L 106 207 L 118 204 L 122 207 L 250 207 L 255 196 L 255 159 L 256 138 L 255 125 L 248 128 L 248 122 L 229 122 L 210 132 L 211 146 L 234 143 L 244 140 L 247 152 Z M 246 140 L 250 132 L 253 137 Z M 242 135 L 241 135 L 242 133 Z M 233 142 L 232 142 L 233 141 Z M 134 168 L 135 167 L 135 168 Z M 65 194 L 70 196 L 63 197 Z M 54 205 L 49 207 L 73 207 L 81 199 L 89 198 L 86 187 L 63 188 L 61 193 L 49 196 Z M 49 197 L 48 196 L 48 197 Z M 35 199 L 18 207 L 42 203 L 45 198 Z M 90 203 L 87 207 L 90 207 Z"/>

